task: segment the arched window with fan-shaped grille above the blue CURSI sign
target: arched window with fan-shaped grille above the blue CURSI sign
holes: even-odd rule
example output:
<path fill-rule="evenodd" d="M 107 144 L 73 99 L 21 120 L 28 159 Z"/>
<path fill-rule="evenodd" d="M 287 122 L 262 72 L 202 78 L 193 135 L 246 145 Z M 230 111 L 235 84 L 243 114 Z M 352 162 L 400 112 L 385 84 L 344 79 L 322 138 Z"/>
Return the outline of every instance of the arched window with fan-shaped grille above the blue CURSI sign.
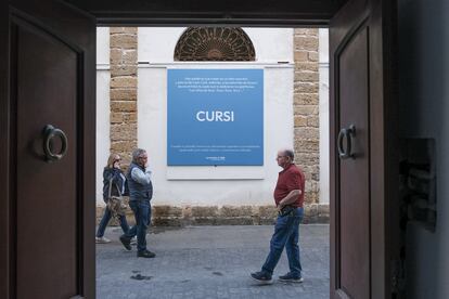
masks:
<path fill-rule="evenodd" d="M 175 48 L 175 61 L 255 61 L 249 37 L 236 27 L 195 27 L 181 35 Z"/>

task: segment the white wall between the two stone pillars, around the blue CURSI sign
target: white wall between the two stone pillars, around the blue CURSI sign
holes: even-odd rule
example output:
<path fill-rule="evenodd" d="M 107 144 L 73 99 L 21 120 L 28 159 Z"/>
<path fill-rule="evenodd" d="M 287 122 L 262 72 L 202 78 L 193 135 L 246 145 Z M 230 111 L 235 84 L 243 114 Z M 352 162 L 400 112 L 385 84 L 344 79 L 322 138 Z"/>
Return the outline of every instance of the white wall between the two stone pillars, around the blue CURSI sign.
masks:
<path fill-rule="evenodd" d="M 244 28 L 256 62 L 175 63 L 174 50 L 184 29 L 139 28 L 138 143 L 149 152 L 154 171 L 154 204 L 270 205 L 281 170 L 277 151 L 293 147 L 293 29 Z M 264 166 L 167 167 L 167 68 L 265 69 Z"/>

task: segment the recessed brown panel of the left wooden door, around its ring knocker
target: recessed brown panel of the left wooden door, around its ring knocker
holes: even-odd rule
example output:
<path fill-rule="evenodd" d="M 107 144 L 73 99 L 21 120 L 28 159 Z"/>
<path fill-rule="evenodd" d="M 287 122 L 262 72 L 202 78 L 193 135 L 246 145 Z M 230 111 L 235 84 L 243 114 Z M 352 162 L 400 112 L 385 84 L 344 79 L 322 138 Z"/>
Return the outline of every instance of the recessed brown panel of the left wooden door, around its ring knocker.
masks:
<path fill-rule="evenodd" d="M 78 55 L 31 25 L 16 24 L 17 68 L 17 298 L 77 295 Z M 43 128 L 68 140 L 66 155 L 48 162 Z M 59 139 L 55 139 L 55 141 Z M 54 144 L 54 152 L 60 152 Z"/>

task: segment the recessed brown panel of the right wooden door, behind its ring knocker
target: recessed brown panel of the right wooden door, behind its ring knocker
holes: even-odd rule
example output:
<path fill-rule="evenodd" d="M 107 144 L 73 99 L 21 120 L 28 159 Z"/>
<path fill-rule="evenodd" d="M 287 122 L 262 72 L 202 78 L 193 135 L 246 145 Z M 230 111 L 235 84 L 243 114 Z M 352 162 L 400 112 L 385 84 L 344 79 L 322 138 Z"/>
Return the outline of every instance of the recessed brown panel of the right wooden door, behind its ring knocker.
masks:
<path fill-rule="evenodd" d="M 339 160 L 339 286 L 350 298 L 369 298 L 369 90 L 368 32 L 361 28 L 338 58 L 339 129 L 355 126 L 354 158 Z"/>

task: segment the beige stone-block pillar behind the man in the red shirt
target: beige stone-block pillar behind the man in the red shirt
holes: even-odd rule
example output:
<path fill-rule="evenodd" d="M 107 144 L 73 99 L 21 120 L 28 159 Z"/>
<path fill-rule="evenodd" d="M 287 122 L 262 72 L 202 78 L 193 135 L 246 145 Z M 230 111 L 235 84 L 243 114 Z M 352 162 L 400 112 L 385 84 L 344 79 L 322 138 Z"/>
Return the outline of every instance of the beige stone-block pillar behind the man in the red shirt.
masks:
<path fill-rule="evenodd" d="M 294 32 L 294 146 L 295 162 L 306 174 L 307 204 L 319 202 L 319 53 L 318 29 Z"/>

